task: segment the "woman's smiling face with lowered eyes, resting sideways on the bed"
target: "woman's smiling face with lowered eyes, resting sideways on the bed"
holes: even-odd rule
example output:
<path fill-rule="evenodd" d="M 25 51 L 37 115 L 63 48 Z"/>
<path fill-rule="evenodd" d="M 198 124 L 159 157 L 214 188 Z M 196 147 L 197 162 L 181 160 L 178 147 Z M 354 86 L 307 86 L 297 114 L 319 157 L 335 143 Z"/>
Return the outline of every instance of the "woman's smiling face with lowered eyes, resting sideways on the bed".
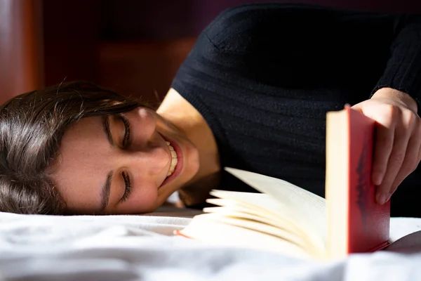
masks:
<path fill-rule="evenodd" d="M 138 107 L 76 122 L 62 137 L 51 169 L 69 211 L 144 213 L 196 174 L 199 152 L 156 112 Z"/>

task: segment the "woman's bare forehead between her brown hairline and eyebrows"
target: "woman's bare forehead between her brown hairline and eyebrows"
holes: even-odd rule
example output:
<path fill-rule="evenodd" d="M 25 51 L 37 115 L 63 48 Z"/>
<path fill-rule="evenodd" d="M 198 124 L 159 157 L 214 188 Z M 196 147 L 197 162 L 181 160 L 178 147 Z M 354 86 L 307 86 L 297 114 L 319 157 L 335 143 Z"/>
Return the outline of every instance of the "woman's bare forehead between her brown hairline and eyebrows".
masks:
<path fill-rule="evenodd" d="M 65 131 L 52 177 L 69 209 L 91 211 L 99 206 L 109 150 L 101 117 L 83 118 Z"/>

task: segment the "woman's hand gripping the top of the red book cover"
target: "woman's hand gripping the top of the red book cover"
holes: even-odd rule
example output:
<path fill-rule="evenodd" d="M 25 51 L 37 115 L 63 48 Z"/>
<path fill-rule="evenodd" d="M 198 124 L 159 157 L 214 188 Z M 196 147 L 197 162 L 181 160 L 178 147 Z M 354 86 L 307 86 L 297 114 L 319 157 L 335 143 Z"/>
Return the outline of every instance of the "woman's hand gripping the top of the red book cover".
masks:
<path fill-rule="evenodd" d="M 372 180 L 376 200 L 385 204 L 421 158 L 421 119 L 417 103 L 401 91 L 382 88 L 352 108 L 376 121 Z"/>

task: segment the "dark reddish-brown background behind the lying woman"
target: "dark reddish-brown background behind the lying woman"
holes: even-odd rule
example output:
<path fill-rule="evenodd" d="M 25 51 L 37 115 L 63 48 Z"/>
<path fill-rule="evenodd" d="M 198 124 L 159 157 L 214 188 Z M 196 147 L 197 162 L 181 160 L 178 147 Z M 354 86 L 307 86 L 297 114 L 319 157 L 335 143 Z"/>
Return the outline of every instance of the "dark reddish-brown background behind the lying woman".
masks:
<path fill-rule="evenodd" d="M 63 79 L 161 99 L 196 36 L 241 0 L 0 0 L 0 102 Z M 415 0 L 288 1 L 421 12 Z"/>

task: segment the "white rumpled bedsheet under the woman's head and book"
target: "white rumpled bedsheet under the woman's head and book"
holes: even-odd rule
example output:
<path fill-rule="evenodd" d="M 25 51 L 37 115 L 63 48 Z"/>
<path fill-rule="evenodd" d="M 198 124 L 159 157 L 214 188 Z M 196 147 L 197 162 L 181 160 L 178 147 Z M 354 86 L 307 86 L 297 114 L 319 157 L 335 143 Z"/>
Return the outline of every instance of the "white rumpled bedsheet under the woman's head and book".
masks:
<path fill-rule="evenodd" d="M 0 280 L 421 280 L 421 252 L 302 261 L 171 236 L 189 218 L 0 213 Z M 392 218 L 391 237 L 421 230 Z"/>

